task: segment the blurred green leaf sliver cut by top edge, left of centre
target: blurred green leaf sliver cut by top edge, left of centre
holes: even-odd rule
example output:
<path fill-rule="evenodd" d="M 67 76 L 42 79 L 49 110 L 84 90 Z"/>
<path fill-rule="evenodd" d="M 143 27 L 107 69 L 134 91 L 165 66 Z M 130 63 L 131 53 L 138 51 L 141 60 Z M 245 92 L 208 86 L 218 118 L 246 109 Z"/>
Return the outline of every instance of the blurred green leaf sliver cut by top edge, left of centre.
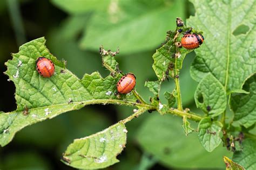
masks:
<path fill-rule="evenodd" d="M 110 8 L 110 0 L 51 0 L 58 8 L 71 14 L 80 15 L 82 13 L 103 10 Z"/>

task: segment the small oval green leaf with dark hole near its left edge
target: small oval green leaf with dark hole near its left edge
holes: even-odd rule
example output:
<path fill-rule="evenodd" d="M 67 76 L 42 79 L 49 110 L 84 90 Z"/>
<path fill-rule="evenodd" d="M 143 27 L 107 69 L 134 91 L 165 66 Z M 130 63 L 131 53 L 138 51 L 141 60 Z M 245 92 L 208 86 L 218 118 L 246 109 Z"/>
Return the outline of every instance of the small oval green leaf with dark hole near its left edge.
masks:
<path fill-rule="evenodd" d="M 203 101 L 199 101 L 203 98 Z M 226 110 L 227 99 L 223 85 L 208 73 L 198 84 L 194 94 L 197 107 L 215 117 Z"/>

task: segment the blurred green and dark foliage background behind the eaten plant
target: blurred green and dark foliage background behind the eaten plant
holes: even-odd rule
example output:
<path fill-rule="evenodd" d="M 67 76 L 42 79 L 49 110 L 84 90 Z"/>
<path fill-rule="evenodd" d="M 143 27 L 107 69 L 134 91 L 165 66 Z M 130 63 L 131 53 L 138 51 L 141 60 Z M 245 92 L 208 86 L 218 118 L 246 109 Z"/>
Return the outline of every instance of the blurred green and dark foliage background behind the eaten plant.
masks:
<path fill-rule="evenodd" d="M 152 55 L 165 40 L 168 30 L 176 28 L 176 17 L 186 18 L 195 9 L 186 0 L 1 0 L 0 111 L 16 109 L 15 86 L 3 74 L 4 62 L 11 52 L 32 39 L 44 36 L 46 46 L 79 78 L 99 71 L 109 74 L 101 63 L 99 46 L 115 51 L 119 67 L 137 77 L 137 91 L 149 100 L 146 80 L 157 80 Z M 197 83 L 190 77 L 194 59 L 190 53 L 180 74 L 184 107 L 199 112 L 193 95 Z M 161 94 L 172 91 L 172 80 L 164 82 Z M 165 103 L 163 95 L 160 100 Z M 0 169 L 73 169 L 59 161 L 73 139 L 103 130 L 129 116 L 133 108 L 114 105 L 86 106 L 43 121 L 18 132 L 14 140 L 0 148 Z M 127 124 L 128 140 L 120 162 L 106 169 L 224 169 L 219 147 L 211 154 L 200 145 L 197 134 L 185 136 L 179 117 L 145 113 Z M 192 126 L 196 128 L 197 124 Z"/>

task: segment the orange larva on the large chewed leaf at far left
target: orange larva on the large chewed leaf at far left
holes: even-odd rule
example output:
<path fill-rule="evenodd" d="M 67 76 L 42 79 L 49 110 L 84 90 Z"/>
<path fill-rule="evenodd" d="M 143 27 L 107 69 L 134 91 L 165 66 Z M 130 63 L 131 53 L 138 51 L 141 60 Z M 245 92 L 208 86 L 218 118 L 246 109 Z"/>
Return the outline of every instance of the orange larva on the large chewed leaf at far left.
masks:
<path fill-rule="evenodd" d="M 43 77 L 51 77 L 54 74 L 55 66 L 51 60 L 39 57 L 36 60 L 36 70 Z"/>

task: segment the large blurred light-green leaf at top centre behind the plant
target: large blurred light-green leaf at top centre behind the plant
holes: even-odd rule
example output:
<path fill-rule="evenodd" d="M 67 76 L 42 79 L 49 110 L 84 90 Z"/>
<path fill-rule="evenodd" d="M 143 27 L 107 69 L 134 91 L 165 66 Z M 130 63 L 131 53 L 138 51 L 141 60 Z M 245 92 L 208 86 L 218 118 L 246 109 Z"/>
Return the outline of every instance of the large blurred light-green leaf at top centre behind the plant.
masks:
<path fill-rule="evenodd" d="M 151 50 L 175 28 L 177 16 L 184 17 L 184 1 L 112 1 L 105 11 L 93 13 L 80 46 L 94 51 L 100 45 L 119 46 L 122 54 Z"/>

